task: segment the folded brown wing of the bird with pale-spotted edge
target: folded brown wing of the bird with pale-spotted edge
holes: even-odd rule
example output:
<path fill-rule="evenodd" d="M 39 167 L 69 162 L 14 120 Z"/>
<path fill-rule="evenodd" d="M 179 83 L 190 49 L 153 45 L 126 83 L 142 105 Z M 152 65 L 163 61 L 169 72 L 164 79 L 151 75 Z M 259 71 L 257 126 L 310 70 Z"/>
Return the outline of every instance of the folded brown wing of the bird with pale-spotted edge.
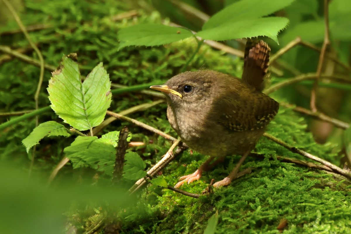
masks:
<path fill-rule="evenodd" d="M 227 93 L 217 105 L 220 125 L 233 131 L 249 131 L 265 127 L 278 113 L 279 103 L 269 96 L 248 91 Z"/>

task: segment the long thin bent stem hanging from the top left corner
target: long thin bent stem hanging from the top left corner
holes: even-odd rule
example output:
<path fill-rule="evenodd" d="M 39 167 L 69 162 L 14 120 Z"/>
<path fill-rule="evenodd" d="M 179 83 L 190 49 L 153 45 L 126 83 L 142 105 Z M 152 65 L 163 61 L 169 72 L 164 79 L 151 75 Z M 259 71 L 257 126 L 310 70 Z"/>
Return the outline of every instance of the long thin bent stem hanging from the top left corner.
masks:
<path fill-rule="evenodd" d="M 34 49 L 34 51 L 38 54 L 39 60 L 40 60 L 40 75 L 39 75 L 39 81 L 38 81 L 38 86 L 37 86 L 37 91 L 34 94 L 34 101 L 35 101 L 35 109 L 38 110 L 39 109 L 39 102 L 38 102 L 38 98 L 39 98 L 39 93 L 40 93 L 40 88 L 41 88 L 41 84 L 43 82 L 43 78 L 44 78 L 44 59 L 43 56 L 41 55 L 38 47 L 34 44 L 34 42 L 31 40 L 31 38 L 29 37 L 29 34 L 26 30 L 26 28 L 24 27 L 24 25 L 22 24 L 21 19 L 19 18 L 18 14 L 16 13 L 15 9 L 12 7 L 12 5 L 7 1 L 7 0 L 2 0 L 2 2 L 4 2 L 4 4 L 6 5 L 6 7 L 8 8 L 8 10 L 11 12 L 11 14 L 13 15 L 13 18 L 16 20 L 18 26 L 20 27 L 21 31 L 23 32 L 23 34 L 25 35 L 27 41 L 29 42 L 29 45 L 31 45 L 31 47 Z M 39 125 L 39 117 L 35 116 L 35 126 Z M 34 156 L 35 156 L 35 147 L 33 148 L 33 154 L 32 154 L 32 161 L 31 161 L 31 166 L 29 167 L 29 176 L 31 175 L 32 172 L 32 168 L 34 165 Z"/>

